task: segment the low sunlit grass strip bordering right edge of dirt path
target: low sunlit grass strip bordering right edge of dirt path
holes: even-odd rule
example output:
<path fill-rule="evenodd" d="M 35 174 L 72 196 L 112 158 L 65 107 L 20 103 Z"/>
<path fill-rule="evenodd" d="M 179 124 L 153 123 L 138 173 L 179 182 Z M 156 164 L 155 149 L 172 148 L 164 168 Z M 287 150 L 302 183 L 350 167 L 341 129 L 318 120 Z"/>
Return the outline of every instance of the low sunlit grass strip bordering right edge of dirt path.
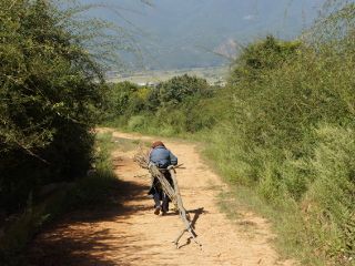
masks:
<path fill-rule="evenodd" d="M 283 202 L 277 206 L 272 206 L 253 187 L 237 184 L 231 176 L 236 165 L 226 165 L 213 153 L 214 144 L 206 144 L 205 133 L 196 134 L 192 139 L 203 140 L 203 147 L 199 151 L 203 160 L 223 178 L 229 185 L 229 191 L 220 192 L 217 203 L 220 209 L 227 217 L 237 224 L 243 218 L 240 211 L 252 211 L 266 218 L 272 224 L 272 231 L 277 236 L 273 245 L 282 258 L 296 258 L 302 265 L 321 266 L 325 265 L 325 259 L 317 257 L 307 246 L 304 237 L 304 223 L 297 205 L 294 202 Z M 247 224 L 245 225 L 247 226 Z M 247 228 L 246 228 L 247 229 Z"/>

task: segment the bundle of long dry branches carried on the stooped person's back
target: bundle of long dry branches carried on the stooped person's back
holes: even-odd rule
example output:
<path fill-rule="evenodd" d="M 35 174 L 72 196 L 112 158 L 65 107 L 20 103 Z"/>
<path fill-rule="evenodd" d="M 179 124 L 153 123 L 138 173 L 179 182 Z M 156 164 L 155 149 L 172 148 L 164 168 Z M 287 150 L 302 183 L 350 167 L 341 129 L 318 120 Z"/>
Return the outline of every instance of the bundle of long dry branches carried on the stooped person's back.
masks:
<path fill-rule="evenodd" d="M 183 236 L 185 232 L 189 232 L 193 238 L 193 241 L 201 247 L 202 245 L 199 243 L 196 239 L 196 233 L 193 229 L 193 226 L 191 224 L 191 218 L 184 208 L 180 190 L 179 190 L 179 184 L 178 184 L 178 178 L 176 178 L 176 168 L 181 167 L 182 164 L 176 165 L 176 166 L 169 166 L 168 171 L 170 172 L 170 175 L 173 180 L 174 187 L 171 186 L 169 181 L 165 178 L 164 174 L 162 174 L 161 170 L 158 168 L 154 164 L 149 163 L 149 152 L 144 151 L 142 147 L 140 147 L 139 152 L 134 155 L 133 157 L 134 162 L 136 162 L 141 167 L 149 170 L 151 173 L 152 178 L 156 177 L 159 182 L 162 185 L 162 190 L 164 193 L 169 196 L 169 198 L 172 201 L 172 203 L 175 205 L 175 207 L 179 209 L 180 217 L 182 222 L 184 223 L 184 228 L 183 231 L 179 234 L 179 236 L 173 241 L 175 244 L 176 248 L 179 248 L 179 241 Z M 164 170 L 166 171 L 166 170 Z"/>

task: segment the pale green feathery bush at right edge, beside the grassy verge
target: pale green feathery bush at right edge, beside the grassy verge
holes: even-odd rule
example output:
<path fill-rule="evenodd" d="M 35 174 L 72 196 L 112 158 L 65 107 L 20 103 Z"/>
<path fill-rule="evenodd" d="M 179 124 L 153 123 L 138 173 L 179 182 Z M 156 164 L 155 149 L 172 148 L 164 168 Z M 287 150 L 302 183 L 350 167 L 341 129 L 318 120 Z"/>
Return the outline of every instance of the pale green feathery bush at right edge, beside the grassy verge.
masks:
<path fill-rule="evenodd" d="M 305 216 L 322 250 L 338 260 L 355 255 L 355 141 L 354 129 L 321 125 L 315 156 L 310 163 L 313 180 L 303 200 Z M 314 226 L 314 225 L 317 225 Z"/>

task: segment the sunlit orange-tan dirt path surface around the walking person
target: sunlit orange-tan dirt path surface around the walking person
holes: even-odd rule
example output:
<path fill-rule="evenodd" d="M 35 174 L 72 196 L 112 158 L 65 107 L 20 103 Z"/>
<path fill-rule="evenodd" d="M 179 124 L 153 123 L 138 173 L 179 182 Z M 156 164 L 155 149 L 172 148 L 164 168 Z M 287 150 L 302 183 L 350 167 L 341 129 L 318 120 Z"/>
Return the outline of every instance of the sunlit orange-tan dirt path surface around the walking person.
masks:
<path fill-rule="evenodd" d="M 152 141 L 136 134 L 113 132 L 116 139 Z M 194 144 L 163 140 L 185 168 L 178 178 L 203 247 L 185 234 L 176 249 L 172 241 L 183 228 L 179 215 L 153 214 L 146 196 L 149 178 L 133 163 L 134 151 L 114 151 L 116 174 L 122 181 L 123 204 L 87 213 L 73 213 L 36 239 L 32 265 L 294 265 L 282 262 L 272 248 L 267 221 L 235 209 L 232 223 L 217 206 L 216 196 L 227 187 L 201 160 Z M 247 224 L 247 229 L 245 228 Z"/>

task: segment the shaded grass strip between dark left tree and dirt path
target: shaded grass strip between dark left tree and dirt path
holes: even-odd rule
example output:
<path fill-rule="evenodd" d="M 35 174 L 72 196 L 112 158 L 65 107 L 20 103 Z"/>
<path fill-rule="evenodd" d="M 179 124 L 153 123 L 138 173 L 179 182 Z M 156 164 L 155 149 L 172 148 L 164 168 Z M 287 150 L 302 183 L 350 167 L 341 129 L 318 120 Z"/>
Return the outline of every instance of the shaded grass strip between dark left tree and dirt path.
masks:
<path fill-rule="evenodd" d="M 22 252 L 41 227 L 79 208 L 90 208 L 110 201 L 116 183 L 112 171 L 111 151 L 114 147 L 110 133 L 97 135 L 95 168 L 75 183 L 61 186 L 41 202 L 33 203 L 17 215 L 3 229 L 0 238 L 0 265 L 23 265 Z"/>

